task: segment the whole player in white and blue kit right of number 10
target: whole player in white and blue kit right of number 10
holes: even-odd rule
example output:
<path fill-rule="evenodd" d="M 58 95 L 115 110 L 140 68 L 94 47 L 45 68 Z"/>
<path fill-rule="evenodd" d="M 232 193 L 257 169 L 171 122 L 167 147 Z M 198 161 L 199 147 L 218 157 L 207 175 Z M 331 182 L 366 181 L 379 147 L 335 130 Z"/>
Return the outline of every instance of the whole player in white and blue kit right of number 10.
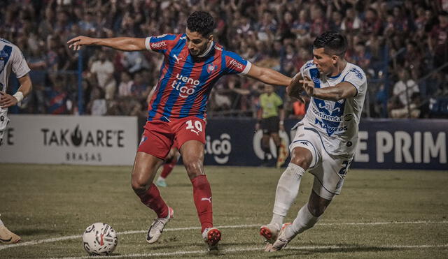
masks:
<path fill-rule="evenodd" d="M 358 141 L 367 91 L 365 73 L 344 59 L 346 39 L 342 34 L 325 32 L 314 40 L 313 47 L 314 59 L 304 64 L 287 88 L 288 94 L 297 98 L 306 91 L 311 101 L 304 119 L 294 127 L 291 161 L 277 184 L 272 221 L 260 228 L 260 235 L 267 239 L 265 251 L 279 251 L 316 224 L 340 193 Z M 309 200 L 293 223 L 283 224 L 307 170 L 314 175 Z"/>

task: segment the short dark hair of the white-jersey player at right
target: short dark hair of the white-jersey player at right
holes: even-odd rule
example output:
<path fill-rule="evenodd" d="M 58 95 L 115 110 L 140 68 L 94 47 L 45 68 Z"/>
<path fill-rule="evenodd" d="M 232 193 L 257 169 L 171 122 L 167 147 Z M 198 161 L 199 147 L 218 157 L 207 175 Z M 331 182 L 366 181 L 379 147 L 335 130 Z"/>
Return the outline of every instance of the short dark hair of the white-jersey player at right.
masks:
<path fill-rule="evenodd" d="M 344 35 L 337 31 L 325 31 L 314 40 L 313 47 L 316 49 L 323 47 L 326 54 L 344 57 L 347 50 L 347 40 Z"/>

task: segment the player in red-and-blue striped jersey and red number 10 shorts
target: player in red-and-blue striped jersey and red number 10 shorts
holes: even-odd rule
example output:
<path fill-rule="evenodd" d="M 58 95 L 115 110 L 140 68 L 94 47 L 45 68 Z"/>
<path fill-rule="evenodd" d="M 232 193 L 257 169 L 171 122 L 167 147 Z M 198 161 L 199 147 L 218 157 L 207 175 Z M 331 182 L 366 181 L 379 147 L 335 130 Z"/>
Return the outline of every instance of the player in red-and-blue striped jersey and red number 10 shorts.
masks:
<path fill-rule="evenodd" d="M 158 240 L 173 210 L 160 196 L 153 179 L 169 149 L 179 147 L 183 164 L 193 184 L 193 200 L 202 225 L 202 237 L 209 250 L 217 249 L 221 231 L 213 226 L 211 188 L 204 173 L 206 108 L 211 88 L 223 75 L 248 75 L 267 84 L 287 86 L 291 78 L 261 68 L 224 50 L 214 41 L 214 18 L 207 12 L 192 13 L 184 34 L 148 38 L 88 38 L 69 40 L 69 47 L 102 45 L 116 50 L 152 50 L 165 56 L 160 79 L 148 108 L 132 170 L 132 188 L 147 207 L 158 215 L 146 240 Z"/>

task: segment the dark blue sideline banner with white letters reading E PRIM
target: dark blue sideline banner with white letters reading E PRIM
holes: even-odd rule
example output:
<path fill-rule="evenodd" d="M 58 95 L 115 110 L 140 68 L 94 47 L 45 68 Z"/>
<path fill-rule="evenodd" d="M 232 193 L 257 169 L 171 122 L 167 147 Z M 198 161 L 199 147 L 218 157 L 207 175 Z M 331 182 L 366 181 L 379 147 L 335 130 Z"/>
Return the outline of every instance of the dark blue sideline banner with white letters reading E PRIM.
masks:
<path fill-rule="evenodd" d="M 286 132 L 280 137 L 286 147 L 295 135 L 290 128 L 297 121 L 285 121 Z M 205 164 L 261 165 L 262 133 L 254 133 L 255 123 L 255 119 L 209 119 Z M 351 168 L 448 170 L 447 132 L 447 119 L 361 119 Z M 272 140 L 270 153 L 270 164 L 274 165 L 276 148 Z M 289 158 L 285 164 L 288 162 Z"/>

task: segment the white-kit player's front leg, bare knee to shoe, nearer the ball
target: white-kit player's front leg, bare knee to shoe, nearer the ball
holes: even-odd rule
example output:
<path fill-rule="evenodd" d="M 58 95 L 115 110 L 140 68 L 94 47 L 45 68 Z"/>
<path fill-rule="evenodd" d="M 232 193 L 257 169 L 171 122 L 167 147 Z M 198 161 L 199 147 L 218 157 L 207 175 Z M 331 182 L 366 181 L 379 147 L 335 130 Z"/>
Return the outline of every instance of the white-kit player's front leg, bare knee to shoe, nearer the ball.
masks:
<path fill-rule="evenodd" d="M 311 161 L 312 154 L 308 149 L 303 147 L 293 149 L 291 161 L 277 184 L 271 222 L 260 227 L 260 235 L 265 237 L 267 242 L 265 251 L 270 251 L 272 244 L 279 236 L 283 218 L 299 193 L 302 175 L 309 168 Z"/>

